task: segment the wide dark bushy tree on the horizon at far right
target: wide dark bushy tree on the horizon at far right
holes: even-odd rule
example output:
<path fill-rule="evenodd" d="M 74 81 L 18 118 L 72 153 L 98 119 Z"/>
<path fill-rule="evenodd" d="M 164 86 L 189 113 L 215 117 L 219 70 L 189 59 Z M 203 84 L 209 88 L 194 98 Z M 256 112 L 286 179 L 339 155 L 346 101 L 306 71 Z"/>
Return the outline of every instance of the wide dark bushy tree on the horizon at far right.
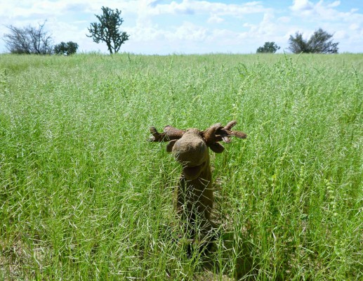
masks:
<path fill-rule="evenodd" d="M 338 44 L 330 40 L 333 34 L 319 28 L 307 41 L 303 34 L 296 32 L 295 37 L 290 35 L 289 50 L 293 53 L 338 53 Z"/>

